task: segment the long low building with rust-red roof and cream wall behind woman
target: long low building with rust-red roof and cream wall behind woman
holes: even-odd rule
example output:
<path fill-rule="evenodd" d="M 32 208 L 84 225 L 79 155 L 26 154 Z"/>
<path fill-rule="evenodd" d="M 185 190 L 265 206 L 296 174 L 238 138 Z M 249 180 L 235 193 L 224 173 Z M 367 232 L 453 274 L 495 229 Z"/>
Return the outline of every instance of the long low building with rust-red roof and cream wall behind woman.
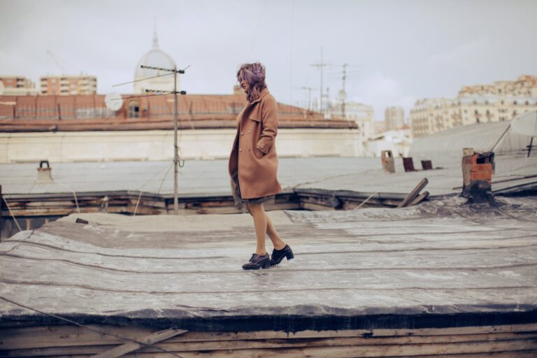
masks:
<path fill-rule="evenodd" d="M 102 94 L 0 96 L 0 163 L 173 159 L 173 95 L 123 94 L 110 110 Z M 178 98 L 181 157 L 226 159 L 245 94 Z M 133 110 L 132 108 L 137 108 Z M 278 103 L 281 157 L 364 155 L 357 124 Z"/>

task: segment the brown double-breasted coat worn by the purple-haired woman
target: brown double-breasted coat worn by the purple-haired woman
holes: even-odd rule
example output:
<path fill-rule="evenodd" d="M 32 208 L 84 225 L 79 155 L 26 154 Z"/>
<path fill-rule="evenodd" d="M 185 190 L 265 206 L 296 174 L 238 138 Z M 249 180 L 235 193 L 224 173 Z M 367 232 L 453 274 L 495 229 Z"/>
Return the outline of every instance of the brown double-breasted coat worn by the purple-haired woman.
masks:
<path fill-rule="evenodd" d="M 229 176 L 238 170 L 241 198 L 260 198 L 282 192 L 275 148 L 278 103 L 268 88 L 261 90 L 259 98 L 241 110 L 237 122 L 229 156 Z"/>

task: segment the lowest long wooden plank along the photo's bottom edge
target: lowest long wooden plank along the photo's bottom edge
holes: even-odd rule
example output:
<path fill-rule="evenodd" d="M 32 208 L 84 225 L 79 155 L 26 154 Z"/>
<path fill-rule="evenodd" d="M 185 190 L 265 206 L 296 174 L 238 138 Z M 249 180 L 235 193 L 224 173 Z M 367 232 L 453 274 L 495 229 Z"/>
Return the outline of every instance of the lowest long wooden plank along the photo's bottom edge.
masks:
<path fill-rule="evenodd" d="M 377 352 L 380 357 L 384 355 L 380 352 L 387 351 L 387 355 L 391 355 L 399 350 L 406 352 L 405 354 L 422 354 L 422 350 L 426 349 L 427 352 L 432 352 L 433 348 L 438 348 L 439 352 L 453 354 L 452 352 L 470 352 L 471 354 L 480 352 L 498 352 L 501 350 L 518 350 L 527 349 L 528 344 L 531 345 L 531 349 L 537 349 L 536 347 L 536 334 L 528 334 L 517 337 L 515 334 L 510 334 L 509 339 L 506 338 L 506 334 L 497 335 L 470 335 L 470 336 L 423 336 L 417 337 L 421 341 L 414 341 L 416 337 L 399 337 L 399 340 L 392 338 L 309 338 L 309 339 L 276 339 L 276 340 L 248 340 L 248 341 L 197 341 L 197 342 L 173 342 L 168 340 L 166 342 L 157 343 L 155 347 L 142 347 L 139 348 L 138 353 L 153 352 L 159 353 L 162 350 L 170 352 L 180 352 L 181 356 L 186 352 L 203 352 L 204 355 L 209 355 L 212 352 L 222 352 L 227 350 L 229 352 L 236 352 L 237 355 L 241 355 L 241 351 L 251 350 L 298 350 L 298 349 L 312 349 L 315 348 L 323 350 L 324 348 L 347 348 L 352 347 L 356 349 L 365 348 L 373 352 Z M 432 341 L 429 339 L 432 338 Z M 461 338 L 465 338 L 461 340 Z M 472 338 L 475 339 L 472 341 Z M 406 341 L 403 341 L 406 340 Z M 45 356 L 57 356 L 57 355 L 101 355 L 108 354 L 115 350 L 115 354 L 120 354 L 119 348 L 125 348 L 126 345 L 82 345 L 80 342 L 73 341 L 73 345 L 65 345 L 64 347 L 51 347 L 51 348 L 30 348 L 21 350 L 0 350 L 2 357 L 45 357 Z M 128 343 L 127 343 L 128 344 Z M 136 343 L 135 343 L 136 344 Z M 500 344 L 500 346 L 499 346 Z M 503 345 L 501 345 L 503 344 Z M 474 350 L 473 346 L 478 345 L 479 350 Z M 161 348 L 162 350 L 159 350 Z M 136 348 L 138 349 L 138 348 Z M 417 352 L 413 352 L 417 350 Z M 132 352 L 132 351 L 131 351 Z M 114 355 L 114 357 L 120 357 Z M 376 357 L 376 356 L 375 356 Z M 392 356 L 390 356 L 392 357 Z"/>

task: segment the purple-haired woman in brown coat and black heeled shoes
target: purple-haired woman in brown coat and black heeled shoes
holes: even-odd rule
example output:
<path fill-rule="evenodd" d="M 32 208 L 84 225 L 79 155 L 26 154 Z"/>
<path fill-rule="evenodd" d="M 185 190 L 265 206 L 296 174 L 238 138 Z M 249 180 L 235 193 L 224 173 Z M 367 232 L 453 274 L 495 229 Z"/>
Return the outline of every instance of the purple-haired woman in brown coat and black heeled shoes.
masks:
<path fill-rule="evenodd" d="M 289 245 L 282 241 L 266 215 L 264 203 L 273 203 L 282 192 L 278 182 L 278 157 L 274 145 L 278 131 L 278 103 L 265 84 L 265 67 L 256 62 L 243 64 L 237 72 L 248 103 L 237 117 L 237 134 L 229 157 L 231 192 L 237 208 L 244 205 L 254 219 L 257 247 L 245 270 L 269 268 L 293 258 Z M 274 249 L 268 257 L 265 234 Z"/>

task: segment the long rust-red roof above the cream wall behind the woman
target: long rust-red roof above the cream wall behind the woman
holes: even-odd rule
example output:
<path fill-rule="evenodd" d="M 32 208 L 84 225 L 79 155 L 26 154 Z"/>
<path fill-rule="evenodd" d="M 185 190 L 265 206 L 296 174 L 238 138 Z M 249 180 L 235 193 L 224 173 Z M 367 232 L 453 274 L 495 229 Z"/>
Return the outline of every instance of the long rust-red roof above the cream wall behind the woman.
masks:
<path fill-rule="evenodd" d="M 105 95 L 0 96 L 0 131 L 87 131 L 173 128 L 173 95 L 122 94 L 119 110 Z M 244 94 L 187 94 L 178 97 L 182 129 L 235 128 Z M 282 128 L 356 128 L 355 122 L 325 120 L 320 113 L 278 103 Z"/>

